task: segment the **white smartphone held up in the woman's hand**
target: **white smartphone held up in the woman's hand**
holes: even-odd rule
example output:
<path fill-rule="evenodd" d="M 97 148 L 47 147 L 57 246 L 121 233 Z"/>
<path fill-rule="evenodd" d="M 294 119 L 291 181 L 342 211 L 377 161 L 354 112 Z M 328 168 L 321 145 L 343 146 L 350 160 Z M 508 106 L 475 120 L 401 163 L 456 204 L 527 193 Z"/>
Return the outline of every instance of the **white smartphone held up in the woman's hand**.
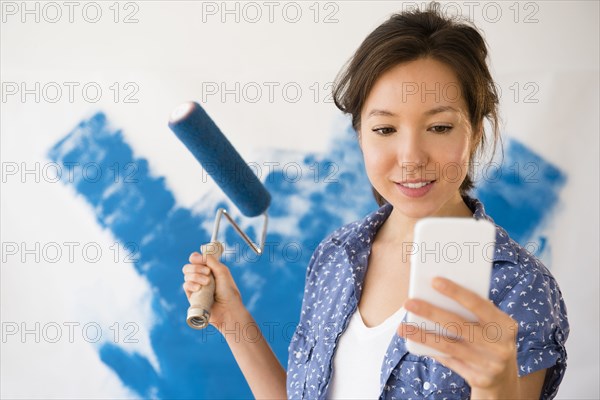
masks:
<path fill-rule="evenodd" d="M 492 273 L 492 257 L 496 244 L 496 227 L 487 220 L 474 218 L 424 218 L 415 224 L 411 256 L 408 296 L 454 312 L 468 321 L 475 315 L 455 300 L 442 295 L 432 286 L 433 278 L 441 276 L 488 298 Z M 438 334 L 439 340 L 455 340 L 469 334 L 469 326 L 460 322 L 438 324 L 413 313 L 406 322 L 416 324 L 427 332 L 429 340 Z M 443 353 L 411 340 L 411 353 L 434 356 Z"/>

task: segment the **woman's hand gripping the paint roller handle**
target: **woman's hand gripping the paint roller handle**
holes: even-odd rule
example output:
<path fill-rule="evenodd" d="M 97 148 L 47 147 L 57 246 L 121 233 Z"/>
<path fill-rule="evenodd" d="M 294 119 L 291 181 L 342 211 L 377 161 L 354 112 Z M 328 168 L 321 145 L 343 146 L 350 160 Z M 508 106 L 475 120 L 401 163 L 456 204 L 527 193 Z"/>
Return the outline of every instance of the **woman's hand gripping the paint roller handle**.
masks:
<path fill-rule="evenodd" d="M 242 296 L 226 265 L 222 264 L 214 255 L 193 252 L 189 264 L 183 266 L 183 290 L 190 300 L 193 292 L 208 285 L 210 279 L 215 280 L 215 302 L 210 311 L 208 322 L 217 329 L 231 319 L 233 314 L 243 310 Z M 212 272 L 212 276 L 211 276 Z"/>

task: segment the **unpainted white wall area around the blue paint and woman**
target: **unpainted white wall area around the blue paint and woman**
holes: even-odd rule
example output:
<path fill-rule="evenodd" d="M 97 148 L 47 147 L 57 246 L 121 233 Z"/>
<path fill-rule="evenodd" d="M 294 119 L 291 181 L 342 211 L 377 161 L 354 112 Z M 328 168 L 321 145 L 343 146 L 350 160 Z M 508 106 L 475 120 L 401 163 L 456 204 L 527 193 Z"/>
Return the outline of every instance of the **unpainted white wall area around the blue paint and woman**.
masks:
<path fill-rule="evenodd" d="M 102 15 L 91 23 L 96 7 L 86 2 L 73 9 L 73 22 L 62 2 L 3 2 L 3 243 L 62 243 L 76 238 L 81 243 L 101 243 L 105 249 L 113 244 L 71 189 L 45 182 L 43 177 L 35 182 L 34 175 L 21 179 L 19 174 L 6 174 L 15 162 L 28 166 L 47 162 L 48 149 L 96 110 L 105 111 L 123 128 L 136 155 L 150 160 L 151 169 L 166 177 L 183 206 L 192 207 L 205 190 L 201 184 L 189 184 L 201 181 L 200 170 L 191 157 L 178 156 L 179 144 L 166 128 L 170 111 L 183 100 L 202 100 L 203 93 L 208 96 L 205 104 L 212 117 L 249 159 L 263 149 L 324 150 L 326 134 L 339 120 L 334 105 L 324 101 L 327 83 L 362 38 L 406 3 L 275 2 L 270 22 L 264 2 L 228 2 L 226 7 L 239 11 L 236 22 L 235 13 L 223 13 L 221 2 L 136 1 L 114 3 L 116 7 L 112 2 L 98 2 Z M 23 14 L 24 4 L 39 12 Z M 447 10 L 471 14 L 485 32 L 493 72 L 503 91 L 504 131 L 567 174 L 560 210 L 547 230 L 552 272 L 562 288 L 571 323 L 569 367 L 559 398 L 598 398 L 598 2 L 444 4 Z M 302 15 L 292 23 L 297 9 Z M 262 16 L 252 22 L 257 10 Z M 127 15 L 137 22 L 124 23 Z M 331 23 L 325 23 L 326 16 Z M 62 97 L 52 103 L 56 95 L 47 86 L 39 102 L 33 94 L 22 101 L 20 93 L 10 92 L 13 83 L 21 82 L 28 88 L 35 82 L 41 88 L 57 82 Z M 63 82 L 79 84 L 72 102 Z M 103 90 L 96 103 L 86 100 L 80 90 L 89 82 Z M 115 101 L 115 82 L 121 96 L 138 89 L 132 97 L 138 102 L 125 103 L 122 97 Z M 125 87 L 128 82 L 132 85 Z M 244 97 L 240 90 L 239 102 L 232 94 L 223 102 L 218 95 L 206 93 L 222 82 L 229 88 L 236 82 L 241 88 L 256 82 L 263 89 L 262 97 L 252 103 L 248 100 L 254 92 Z M 265 82 L 279 84 L 272 102 Z M 519 90 L 528 82 L 535 83 L 539 102 L 525 103 L 522 97 L 515 102 L 514 89 L 510 89 L 515 82 Z M 286 84 L 301 88 L 297 102 L 285 97 L 295 96 L 291 89 L 282 93 Z M 94 320 L 107 329 L 127 313 L 136 312 L 143 321 L 137 351 L 152 359 L 150 288 L 130 264 L 111 260 L 94 265 L 84 261 L 23 263 L 12 257 L 3 260 L 1 273 L 3 329 L 15 321 L 33 326 L 40 313 L 46 321 Z M 22 343 L 5 336 L 3 330 L 1 367 L 2 397 L 133 395 L 98 360 L 94 345 L 81 339 Z"/>

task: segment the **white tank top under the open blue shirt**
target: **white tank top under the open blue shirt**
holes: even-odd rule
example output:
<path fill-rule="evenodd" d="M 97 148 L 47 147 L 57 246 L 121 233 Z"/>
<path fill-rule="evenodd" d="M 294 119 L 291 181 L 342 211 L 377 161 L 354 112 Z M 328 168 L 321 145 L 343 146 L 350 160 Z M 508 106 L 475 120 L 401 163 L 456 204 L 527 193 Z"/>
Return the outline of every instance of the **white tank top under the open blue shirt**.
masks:
<path fill-rule="evenodd" d="M 400 308 L 368 328 L 358 307 L 340 337 L 333 358 L 328 399 L 377 399 L 383 358 L 406 311 Z"/>

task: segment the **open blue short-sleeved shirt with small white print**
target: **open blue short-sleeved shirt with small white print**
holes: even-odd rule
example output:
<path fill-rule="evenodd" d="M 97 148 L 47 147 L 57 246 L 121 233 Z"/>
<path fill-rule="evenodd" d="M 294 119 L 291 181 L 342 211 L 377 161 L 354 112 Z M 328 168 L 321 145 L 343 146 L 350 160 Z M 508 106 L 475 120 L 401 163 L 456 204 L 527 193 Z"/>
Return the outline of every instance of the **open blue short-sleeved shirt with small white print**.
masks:
<path fill-rule="evenodd" d="M 492 221 L 478 200 L 464 199 L 474 218 Z M 360 300 L 371 244 L 391 211 L 385 204 L 336 230 L 315 249 L 306 272 L 300 321 L 289 346 L 288 398 L 325 398 L 338 340 Z M 541 398 L 551 399 L 567 360 L 569 324 L 560 288 L 548 269 L 499 226 L 493 261 L 489 298 L 519 324 L 519 375 L 550 368 Z M 409 353 L 397 334 L 382 362 L 380 388 L 380 399 L 468 399 L 471 393 L 451 369 Z"/>

